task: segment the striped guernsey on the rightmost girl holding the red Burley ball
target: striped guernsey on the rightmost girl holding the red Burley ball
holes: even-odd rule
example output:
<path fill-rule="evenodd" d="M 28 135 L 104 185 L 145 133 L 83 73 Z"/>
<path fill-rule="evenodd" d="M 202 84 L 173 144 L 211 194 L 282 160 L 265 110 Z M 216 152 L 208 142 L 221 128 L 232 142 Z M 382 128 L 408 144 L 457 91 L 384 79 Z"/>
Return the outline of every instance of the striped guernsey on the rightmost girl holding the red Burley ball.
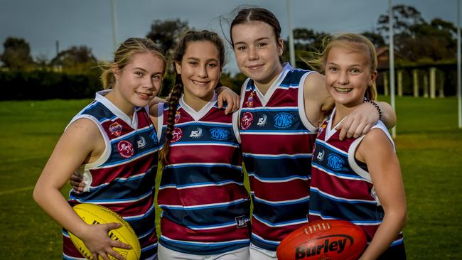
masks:
<path fill-rule="evenodd" d="M 331 119 L 334 114 L 335 109 Z M 385 212 L 375 194 L 367 166 L 355 159 L 355 151 L 364 136 L 340 141 L 340 131 L 335 130 L 331 119 L 324 121 L 319 128 L 313 152 L 309 221 L 348 220 L 361 227 L 370 242 Z M 393 143 L 382 121 L 378 121 L 372 128 L 384 131 Z M 394 250 L 392 247 L 402 249 Z M 397 257 L 404 254 L 402 232 L 389 250 L 395 251 L 394 256 Z"/>

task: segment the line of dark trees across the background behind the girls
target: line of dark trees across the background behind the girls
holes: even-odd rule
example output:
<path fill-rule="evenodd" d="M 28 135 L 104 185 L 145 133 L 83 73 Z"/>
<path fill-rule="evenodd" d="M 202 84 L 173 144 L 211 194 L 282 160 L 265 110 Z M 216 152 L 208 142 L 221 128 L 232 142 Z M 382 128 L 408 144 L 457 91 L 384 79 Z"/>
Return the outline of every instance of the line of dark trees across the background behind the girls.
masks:
<path fill-rule="evenodd" d="M 456 26 L 453 23 L 442 18 L 426 21 L 413 6 L 402 4 L 393 6 L 392 14 L 394 17 L 394 51 L 397 53 L 395 58 L 397 64 L 456 63 Z M 362 33 L 374 43 L 376 48 L 387 45 L 390 41 L 388 38 L 388 19 L 388 13 L 382 14 L 377 19 L 377 29 L 375 31 Z M 181 33 L 189 29 L 191 28 L 188 21 L 181 21 L 179 18 L 166 21 L 154 20 L 148 33 L 146 33 L 146 37 L 154 40 L 168 56 Z M 293 33 L 296 65 L 297 67 L 308 68 L 303 63 L 303 57 L 306 56 L 306 53 L 320 50 L 327 33 L 310 28 L 294 28 Z M 91 48 L 85 45 L 72 46 L 62 50 L 51 60 L 48 60 L 43 55 L 32 58 L 31 48 L 23 38 L 6 38 L 3 45 L 4 52 L 0 55 L 3 69 L 0 70 L 0 73 L 16 71 L 15 73 L 18 75 L 17 71 L 31 72 L 41 70 L 89 75 L 89 77 L 97 77 L 99 74 L 99 70 L 97 70 L 98 60 L 92 54 Z M 288 48 L 288 46 L 286 43 L 285 47 Z M 288 50 L 284 51 L 283 59 L 289 60 Z M 21 76 L 19 75 L 18 77 Z M 4 80 L 8 80 L 8 78 L 5 75 L 0 75 L 0 85 L 4 85 Z M 242 74 L 230 75 L 230 73 L 223 73 L 222 84 L 234 87 L 238 92 L 244 79 L 245 76 Z M 171 82 L 171 77 L 167 76 L 163 82 L 164 87 L 161 95 L 168 94 Z M 39 83 L 37 82 L 37 84 Z"/>

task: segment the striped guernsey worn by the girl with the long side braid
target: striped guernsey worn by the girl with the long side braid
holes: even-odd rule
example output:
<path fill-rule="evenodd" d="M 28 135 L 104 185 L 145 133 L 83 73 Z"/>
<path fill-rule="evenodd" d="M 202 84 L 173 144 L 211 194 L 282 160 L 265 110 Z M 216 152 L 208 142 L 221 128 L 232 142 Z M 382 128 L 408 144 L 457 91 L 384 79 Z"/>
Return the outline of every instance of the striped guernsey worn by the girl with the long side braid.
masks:
<path fill-rule="evenodd" d="M 167 112 L 168 104 L 159 104 L 161 145 Z M 237 114 L 217 108 L 216 94 L 199 112 L 179 100 L 158 195 L 163 247 L 209 255 L 249 246 L 250 197 L 233 120 Z"/>

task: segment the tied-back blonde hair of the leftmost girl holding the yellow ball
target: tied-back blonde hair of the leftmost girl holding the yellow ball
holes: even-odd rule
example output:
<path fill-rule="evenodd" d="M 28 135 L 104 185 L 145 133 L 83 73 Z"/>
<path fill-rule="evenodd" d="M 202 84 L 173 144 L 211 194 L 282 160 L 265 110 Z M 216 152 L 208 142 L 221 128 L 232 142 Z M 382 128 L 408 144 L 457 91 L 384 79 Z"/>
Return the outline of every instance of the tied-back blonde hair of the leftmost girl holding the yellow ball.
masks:
<path fill-rule="evenodd" d="M 119 45 L 119 48 L 114 52 L 113 63 L 101 63 L 100 67 L 103 72 L 100 76 L 102 86 L 104 89 L 111 89 L 114 87 L 115 77 L 112 69 L 117 67 L 122 70 L 127 64 L 131 62 L 133 55 L 137 53 L 153 53 L 163 61 L 163 68 L 166 67 L 166 58 L 163 57 L 161 49 L 149 38 L 128 38 Z"/>

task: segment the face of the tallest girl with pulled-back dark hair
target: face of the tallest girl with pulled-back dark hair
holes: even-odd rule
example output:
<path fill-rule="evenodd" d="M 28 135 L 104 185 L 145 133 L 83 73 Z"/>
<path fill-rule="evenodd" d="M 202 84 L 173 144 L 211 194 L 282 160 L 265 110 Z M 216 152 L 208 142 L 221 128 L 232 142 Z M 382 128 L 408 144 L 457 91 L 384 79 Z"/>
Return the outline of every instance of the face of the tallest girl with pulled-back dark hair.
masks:
<path fill-rule="evenodd" d="M 262 21 L 240 23 L 232 27 L 232 42 L 237 66 L 257 85 L 269 85 L 282 70 L 279 56 L 284 43 L 276 40 L 274 29 Z"/>

